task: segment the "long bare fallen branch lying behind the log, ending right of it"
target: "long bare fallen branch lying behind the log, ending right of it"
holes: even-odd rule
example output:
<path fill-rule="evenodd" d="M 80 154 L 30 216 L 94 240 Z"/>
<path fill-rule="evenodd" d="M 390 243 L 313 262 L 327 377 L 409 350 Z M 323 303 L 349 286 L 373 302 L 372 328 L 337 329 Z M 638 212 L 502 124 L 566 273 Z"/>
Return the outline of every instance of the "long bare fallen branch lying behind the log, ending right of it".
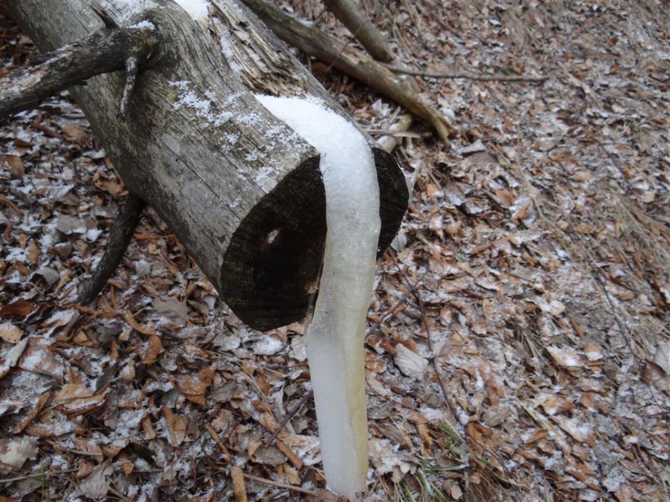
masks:
<path fill-rule="evenodd" d="M 401 79 L 382 63 L 305 24 L 264 0 L 242 0 L 276 35 L 302 52 L 334 66 L 359 82 L 391 98 L 408 112 L 429 123 L 445 144 L 458 130 L 445 116 L 422 100 L 412 82 Z"/>

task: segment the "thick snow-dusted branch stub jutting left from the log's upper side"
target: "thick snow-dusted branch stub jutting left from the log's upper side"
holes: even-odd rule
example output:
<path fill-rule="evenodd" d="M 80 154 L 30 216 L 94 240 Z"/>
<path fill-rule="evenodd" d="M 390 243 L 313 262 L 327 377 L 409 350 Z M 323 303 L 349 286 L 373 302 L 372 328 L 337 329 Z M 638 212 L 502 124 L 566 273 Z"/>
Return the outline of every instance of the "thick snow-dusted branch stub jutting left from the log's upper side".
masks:
<path fill-rule="evenodd" d="M 36 107 L 54 93 L 82 81 L 142 63 L 158 46 L 158 32 L 146 27 L 103 28 L 0 79 L 0 119 Z"/>

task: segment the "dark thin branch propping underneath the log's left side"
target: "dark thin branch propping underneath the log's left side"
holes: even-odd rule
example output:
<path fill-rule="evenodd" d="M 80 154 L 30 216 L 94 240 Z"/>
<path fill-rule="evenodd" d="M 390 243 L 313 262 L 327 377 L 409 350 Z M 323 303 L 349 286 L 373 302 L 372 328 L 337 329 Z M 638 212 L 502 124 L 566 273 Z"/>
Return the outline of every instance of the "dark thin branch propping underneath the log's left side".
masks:
<path fill-rule="evenodd" d="M 144 205 L 142 199 L 128 192 L 126 204 L 119 209 L 117 219 L 112 224 L 110 238 L 107 241 L 103 257 L 98 262 L 93 275 L 84 282 L 79 296 L 77 296 L 79 305 L 88 305 L 94 301 L 98 293 L 107 284 L 107 279 L 112 277 L 112 274 L 117 270 L 128 244 L 131 243 L 133 232 L 137 227 L 137 222 L 140 221 Z"/>

